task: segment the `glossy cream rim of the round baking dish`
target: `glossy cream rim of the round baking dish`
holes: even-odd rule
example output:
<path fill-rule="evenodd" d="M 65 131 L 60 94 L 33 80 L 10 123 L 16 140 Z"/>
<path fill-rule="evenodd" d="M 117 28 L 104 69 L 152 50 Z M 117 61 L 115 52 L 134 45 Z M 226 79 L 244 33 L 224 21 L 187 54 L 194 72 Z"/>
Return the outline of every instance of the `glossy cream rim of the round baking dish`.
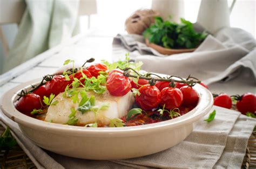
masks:
<path fill-rule="evenodd" d="M 37 130 L 48 130 L 49 132 L 54 133 L 68 133 L 69 135 L 81 135 L 86 133 L 90 136 L 93 135 L 99 137 L 146 134 L 169 128 L 179 128 L 182 125 L 194 123 L 199 118 L 207 114 L 213 106 L 213 97 L 211 92 L 205 87 L 197 84 L 194 86 L 194 89 L 199 94 L 197 106 L 193 110 L 187 112 L 187 114 L 167 121 L 146 125 L 124 126 L 119 128 L 87 128 L 83 126 L 50 123 L 24 115 L 14 107 L 14 100 L 17 98 L 17 93 L 24 88 L 29 88 L 30 85 L 37 84 L 39 81 L 40 79 L 28 81 L 6 91 L 0 100 L 0 106 L 3 114 L 12 119 L 12 121 L 17 122 L 19 125 L 28 126 L 30 128 L 33 127 L 33 129 Z"/>

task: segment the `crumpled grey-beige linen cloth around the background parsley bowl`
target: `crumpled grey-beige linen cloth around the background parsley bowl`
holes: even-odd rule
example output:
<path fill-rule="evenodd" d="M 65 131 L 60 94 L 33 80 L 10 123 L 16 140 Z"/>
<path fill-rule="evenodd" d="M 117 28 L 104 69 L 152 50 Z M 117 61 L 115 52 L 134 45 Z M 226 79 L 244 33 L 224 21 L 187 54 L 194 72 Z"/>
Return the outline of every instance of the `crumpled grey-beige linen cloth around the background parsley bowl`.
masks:
<path fill-rule="evenodd" d="M 225 28 L 208 37 L 192 53 L 163 55 L 147 47 L 144 38 L 134 34 L 118 34 L 113 45 L 131 51 L 131 59 L 142 61 L 147 72 L 178 75 L 188 74 L 206 85 L 236 78 L 241 69 L 250 68 L 256 78 L 256 41 L 250 33 L 238 28 Z M 153 64 L 152 64 L 153 63 Z"/>

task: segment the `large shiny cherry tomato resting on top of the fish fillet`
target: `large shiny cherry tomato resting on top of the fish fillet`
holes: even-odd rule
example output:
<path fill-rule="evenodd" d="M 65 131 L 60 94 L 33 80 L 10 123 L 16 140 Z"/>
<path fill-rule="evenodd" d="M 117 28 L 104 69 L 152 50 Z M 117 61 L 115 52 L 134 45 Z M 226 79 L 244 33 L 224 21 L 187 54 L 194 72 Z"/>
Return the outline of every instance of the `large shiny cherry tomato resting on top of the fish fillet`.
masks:
<path fill-rule="evenodd" d="M 121 73 L 112 73 L 106 81 L 106 88 L 113 96 L 124 96 L 132 88 L 130 79 Z"/>

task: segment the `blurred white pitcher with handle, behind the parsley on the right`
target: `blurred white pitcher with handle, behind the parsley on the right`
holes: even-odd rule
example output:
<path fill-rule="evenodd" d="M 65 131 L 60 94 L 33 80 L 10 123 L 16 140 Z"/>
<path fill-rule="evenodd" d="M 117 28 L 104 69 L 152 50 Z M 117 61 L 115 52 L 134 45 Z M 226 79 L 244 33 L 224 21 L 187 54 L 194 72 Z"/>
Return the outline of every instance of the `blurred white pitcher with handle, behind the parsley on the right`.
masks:
<path fill-rule="evenodd" d="M 197 23 L 203 26 L 208 32 L 215 33 L 223 27 L 230 27 L 230 12 L 227 0 L 201 0 Z"/>

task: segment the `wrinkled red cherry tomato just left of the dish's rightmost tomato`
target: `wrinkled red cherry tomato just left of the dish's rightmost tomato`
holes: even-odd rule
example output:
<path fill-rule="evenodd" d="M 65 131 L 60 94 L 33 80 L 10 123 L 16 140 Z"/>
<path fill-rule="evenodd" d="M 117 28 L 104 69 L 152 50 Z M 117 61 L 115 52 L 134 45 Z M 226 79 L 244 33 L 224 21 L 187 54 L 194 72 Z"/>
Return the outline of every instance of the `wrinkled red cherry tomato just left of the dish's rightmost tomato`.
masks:
<path fill-rule="evenodd" d="M 166 87 L 161 90 L 161 105 L 165 109 L 177 108 L 183 102 L 183 94 L 178 88 Z"/>

